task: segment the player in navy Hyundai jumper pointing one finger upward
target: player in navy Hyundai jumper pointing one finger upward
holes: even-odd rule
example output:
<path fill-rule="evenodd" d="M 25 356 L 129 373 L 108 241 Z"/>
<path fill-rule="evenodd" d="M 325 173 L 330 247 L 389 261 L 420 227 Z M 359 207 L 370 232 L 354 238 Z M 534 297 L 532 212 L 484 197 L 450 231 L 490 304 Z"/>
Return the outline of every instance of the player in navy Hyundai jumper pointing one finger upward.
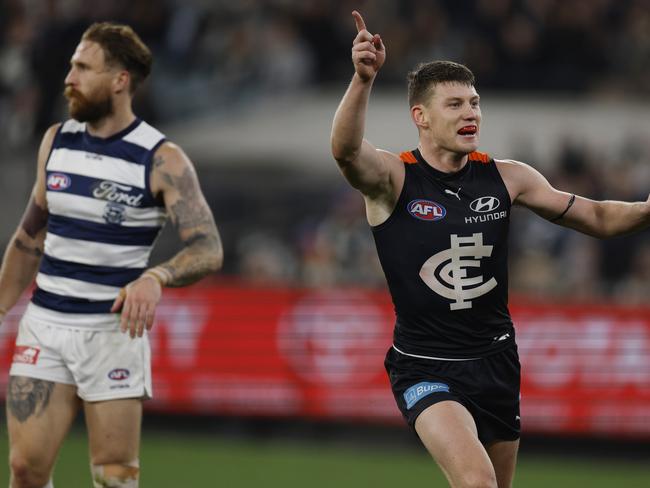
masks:
<path fill-rule="evenodd" d="M 334 116 L 332 154 L 364 197 L 395 305 L 386 369 L 397 405 L 453 487 L 511 486 L 519 446 L 519 360 L 507 305 L 511 206 L 596 237 L 650 225 L 645 202 L 593 201 L 532 167 L 477 151 L 480 98 L 465 66 L 409 74 L 419 144 L 393 154 L 363 138 L 386 60 L 352 13 L 354 75 Z"/>

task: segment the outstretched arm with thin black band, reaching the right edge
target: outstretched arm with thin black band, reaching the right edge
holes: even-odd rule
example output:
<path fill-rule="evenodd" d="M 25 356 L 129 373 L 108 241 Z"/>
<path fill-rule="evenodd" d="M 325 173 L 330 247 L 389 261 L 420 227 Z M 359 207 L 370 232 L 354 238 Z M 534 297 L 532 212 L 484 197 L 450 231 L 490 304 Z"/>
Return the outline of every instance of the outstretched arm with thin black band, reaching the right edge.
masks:
<path fill-rule="evenodd" d="M 650 197 L 645 202 L 590 200 L 556 190 L 527 164 L 498 161 L 497 165 L 513 202 L 551 222 L 599 238 L 650 227 Z"/>

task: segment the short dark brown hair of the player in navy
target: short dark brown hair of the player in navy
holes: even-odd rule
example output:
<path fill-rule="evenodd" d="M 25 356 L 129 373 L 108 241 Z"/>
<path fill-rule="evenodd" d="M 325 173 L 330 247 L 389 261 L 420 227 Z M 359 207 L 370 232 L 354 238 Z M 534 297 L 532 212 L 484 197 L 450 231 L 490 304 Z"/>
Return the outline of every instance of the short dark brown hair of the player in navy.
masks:
<path fill-rule="evenodd" d="M 461 83 L 474 86 L 474 73 L 453 61 L 421 63 L 408 74 L 409 107 L 424 103 L 439 83 Z"/>

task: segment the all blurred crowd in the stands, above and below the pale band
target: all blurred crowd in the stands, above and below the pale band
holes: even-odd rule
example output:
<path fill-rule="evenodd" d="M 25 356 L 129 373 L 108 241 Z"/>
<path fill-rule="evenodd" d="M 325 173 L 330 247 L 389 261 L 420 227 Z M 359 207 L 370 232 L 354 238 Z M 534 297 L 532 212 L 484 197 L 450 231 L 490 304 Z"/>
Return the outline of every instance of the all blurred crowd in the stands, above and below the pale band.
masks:
<path fill-rule="evenodd" d="M 0 0 L 0 155 L 33 148 L 64 117 L 63 79 L 91 21 L 129 23 L 152 48 L 154 76 L 137 112 L 165 124 L 345 86 L 353 9 L 387 45 L 381 87 L 404 89 L 418 62 L 453 59 L 472 68 L 482 92 L 650 98 L 648 0 Z M 648 196 L 645 140 L 630 135 L 603 154 L 568 137 L 559 154 L 546 176 L 560 189 L 595 199 Z M 363 202 L 343 185 L 276 195 L 273 215 L 251 230 L 234 210 L 237 188 L 212 192 L 209 178 L 202 183 L 224 236 L 227 275 L 266 285 L 384 286 Z M 514 293 L 647 302 L 648 232 L 598 241 L 515 212 L 511 240 Z"/>

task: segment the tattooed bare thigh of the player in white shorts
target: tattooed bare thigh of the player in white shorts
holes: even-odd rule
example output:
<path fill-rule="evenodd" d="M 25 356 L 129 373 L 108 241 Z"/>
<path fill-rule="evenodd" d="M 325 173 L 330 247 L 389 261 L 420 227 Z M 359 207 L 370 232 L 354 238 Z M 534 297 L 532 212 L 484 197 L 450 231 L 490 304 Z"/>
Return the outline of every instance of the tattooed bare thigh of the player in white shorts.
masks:
<path fill-rule="evenodd" d="M 12 466 L 51 470 L 79 406 L 74 385 L 10 376 L 6 409 Z"/>

